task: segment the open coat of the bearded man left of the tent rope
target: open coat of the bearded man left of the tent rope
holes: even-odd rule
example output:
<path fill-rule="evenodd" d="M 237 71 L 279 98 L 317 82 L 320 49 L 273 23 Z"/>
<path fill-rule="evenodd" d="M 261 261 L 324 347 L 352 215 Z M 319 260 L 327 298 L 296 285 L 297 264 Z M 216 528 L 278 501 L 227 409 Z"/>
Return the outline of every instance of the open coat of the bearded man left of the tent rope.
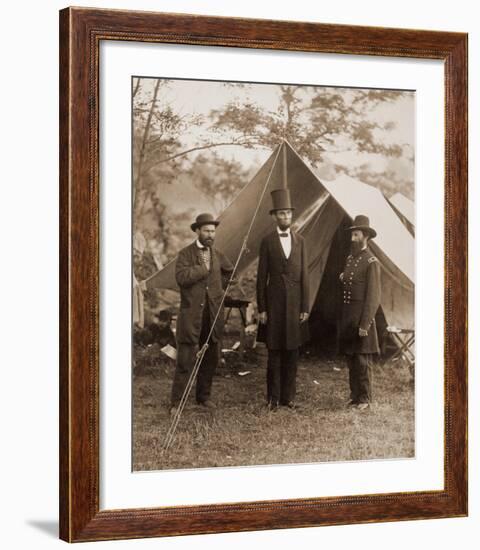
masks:
<path fill-rule="evenodd" d="M 209 309 L 210 322 L 213 322 L 220 309 L 212 342 L 218 342 L 222 336 L 222 296 L 233 266 L 219 250 L 210 250 L 210 269 L 207 268 L 196 242 L 182 249 L 178 255 L 175 266 L 175 278 L 180 287 L 180 313 L 176 334 L 178 343 L 198 344 L 204 307 Z"/>

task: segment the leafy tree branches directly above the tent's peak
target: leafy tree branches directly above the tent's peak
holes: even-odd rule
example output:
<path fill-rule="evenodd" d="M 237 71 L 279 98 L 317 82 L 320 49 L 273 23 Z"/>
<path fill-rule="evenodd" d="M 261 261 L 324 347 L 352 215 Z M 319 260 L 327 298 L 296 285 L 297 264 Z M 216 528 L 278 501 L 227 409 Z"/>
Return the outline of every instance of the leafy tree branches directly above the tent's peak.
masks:
<path fill-rule="evenodd" d="M 396 101 L 398 92 L 290 85 L 278 90 L 278 105 L 273 109 L 246 100 L 212 111 L 212 132 L 218 140 L 232 136 L 249 148 L 273 149 L 286 139 L 313 166 L 326 155 L 345 151 L 402 154 L 401 145 L 382 142 L 382 133 L 392 130 L 393 123 L 375 122 L 369 116 L 378 105 Z"/>

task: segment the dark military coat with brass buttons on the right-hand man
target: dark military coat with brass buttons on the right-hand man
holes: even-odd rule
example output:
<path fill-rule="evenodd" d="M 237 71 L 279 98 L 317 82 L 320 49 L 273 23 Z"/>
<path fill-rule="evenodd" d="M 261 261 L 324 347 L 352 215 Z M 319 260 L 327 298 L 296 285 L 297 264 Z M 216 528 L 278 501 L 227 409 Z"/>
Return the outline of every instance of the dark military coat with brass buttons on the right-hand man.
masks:
<path fill-rule="evenodd" d="M 340 352 L 379 353 L 375 315 L 380 307 L 380 264 L 368 247 L 347 257 L 341 285 Z M 360 336 L 359 328 L 368 335 Z"/>

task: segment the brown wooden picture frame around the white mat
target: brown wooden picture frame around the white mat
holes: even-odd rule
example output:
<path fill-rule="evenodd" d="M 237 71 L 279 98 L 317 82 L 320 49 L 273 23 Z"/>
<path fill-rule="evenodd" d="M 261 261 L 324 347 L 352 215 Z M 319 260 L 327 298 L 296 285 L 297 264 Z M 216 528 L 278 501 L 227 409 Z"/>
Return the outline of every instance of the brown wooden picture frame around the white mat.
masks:
<path fill-rule="evenodd" d="M 102 40 L 444 62 L 443 490 L 100 511 L 98 99 Z M 66 8 L 60 12 L 59 160 L 62 539 L 93 541 L 467 514 L 466 34 Z"/>

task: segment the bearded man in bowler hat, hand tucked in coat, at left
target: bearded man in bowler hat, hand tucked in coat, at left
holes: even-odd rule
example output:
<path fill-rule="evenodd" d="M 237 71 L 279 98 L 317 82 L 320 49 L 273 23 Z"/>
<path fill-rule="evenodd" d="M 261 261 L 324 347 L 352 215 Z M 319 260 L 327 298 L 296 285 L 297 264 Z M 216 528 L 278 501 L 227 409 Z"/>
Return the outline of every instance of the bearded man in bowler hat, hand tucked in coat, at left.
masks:
<path fill-rule="evenodd" d="M 211 214 L 197 216 L 190 226 L 197 238 L 182 249 L 177 258 L 175 277 L 180 287 L 180 313 L 177 318 L 177 364 L 171 414 L 175 413 L 185 391 L 197 351 L 205 343 L 208 348 L 197 374 L 196 400 L 205 407 L 214 407 L 210 392 L 224 325 L 222 296 L 233 272 L 230 260 L 213 247 L 219 223 Z"/>

